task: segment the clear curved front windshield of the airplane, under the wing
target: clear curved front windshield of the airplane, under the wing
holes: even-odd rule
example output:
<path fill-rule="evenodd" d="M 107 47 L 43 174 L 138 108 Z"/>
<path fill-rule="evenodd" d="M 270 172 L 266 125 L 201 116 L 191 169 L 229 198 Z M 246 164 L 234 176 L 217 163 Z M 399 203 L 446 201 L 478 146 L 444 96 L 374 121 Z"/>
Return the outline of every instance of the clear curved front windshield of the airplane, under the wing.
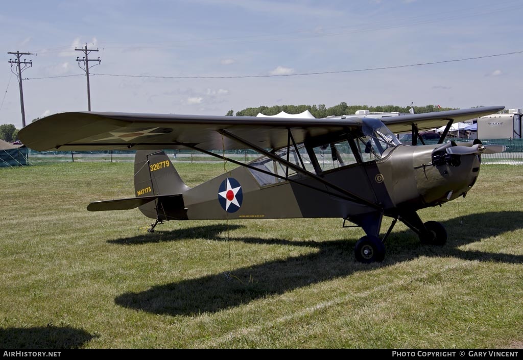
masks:
<path fill-rule="evenodd" d="M 400 140 L 379 119 L 362 119 L 363 136 L 356 139 L 363 161 L 381 159 L 388 149 L 401 145 Z"/>

